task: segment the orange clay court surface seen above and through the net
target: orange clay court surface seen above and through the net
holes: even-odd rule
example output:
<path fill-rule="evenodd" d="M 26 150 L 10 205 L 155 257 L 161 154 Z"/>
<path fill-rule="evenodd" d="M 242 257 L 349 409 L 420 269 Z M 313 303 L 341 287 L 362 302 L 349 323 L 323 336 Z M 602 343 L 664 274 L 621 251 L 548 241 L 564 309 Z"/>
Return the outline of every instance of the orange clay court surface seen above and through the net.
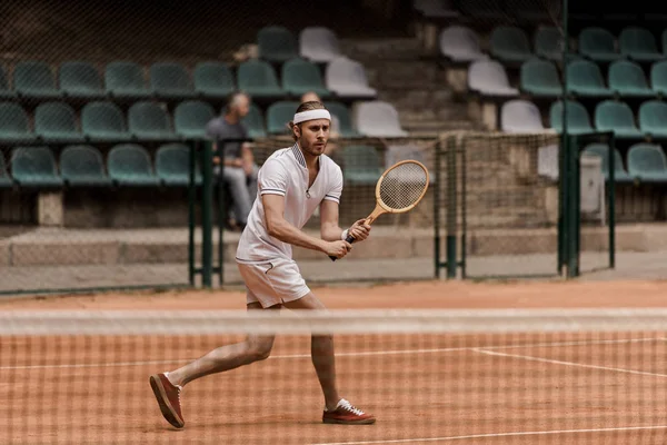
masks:
<path fill-rule="evenodd" d="M 318 287 L 331 309 L 666 307 L 663 281 L 435 283 Z M 240 291 L 4 299 L 0 310 L 243 309 Z M 400 319 L 397 319 L 400 323 Z M 340 390 L 370 426 L 320 422 L 307 336 L 195 382 L 186 427 L 161 417 L 148 376 L 241 338 L 2 338 L 2 443 L 663 444 L 667 333 L 368 334 L 337 338 Z"/>

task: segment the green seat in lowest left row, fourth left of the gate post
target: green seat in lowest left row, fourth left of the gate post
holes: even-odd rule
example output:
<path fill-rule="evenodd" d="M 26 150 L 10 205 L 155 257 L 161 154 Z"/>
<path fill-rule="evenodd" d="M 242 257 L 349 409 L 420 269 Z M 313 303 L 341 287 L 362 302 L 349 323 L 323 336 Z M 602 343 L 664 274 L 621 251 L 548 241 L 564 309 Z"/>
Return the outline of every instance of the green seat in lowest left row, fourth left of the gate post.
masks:
<path fill-rule="evenodd" d="M 11 175 L 21 187 L 61 187 L 56 159 L 48 147 L 16 147 L 11 155 Z"/>

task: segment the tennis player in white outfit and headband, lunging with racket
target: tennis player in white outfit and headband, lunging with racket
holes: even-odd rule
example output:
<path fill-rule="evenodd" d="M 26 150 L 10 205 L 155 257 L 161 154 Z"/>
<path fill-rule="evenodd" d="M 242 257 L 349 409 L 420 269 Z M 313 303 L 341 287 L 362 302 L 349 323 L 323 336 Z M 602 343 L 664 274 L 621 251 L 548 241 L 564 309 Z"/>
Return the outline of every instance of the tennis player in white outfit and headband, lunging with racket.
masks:
<path fill-rule="evenodd" d="M 258 199 L 237 249 L 237 264 L 247 288 L 248 310 L 325 309 L 310 291 L 292 259 L 292 246 L 345 257 L 352 235 L 362 241 L 370 234 L 364 219 L 342 230 L 338 206 L 342 192 L 340 167 L 323 155 L 331 116 L 319 101 L 301 103 L 289 123 L 295 145 L 275 151 L 258 172 Z M 301 228 L 315 209 L 320 210 L 320 238 Z M 190 382 L 269 357 L 272 335 L 249 335 L 245 342 L 222 346 L 172 372 L 150 376 L 151 388 L 167 422 L 185 426 L 180 394 Z M 334 339 L 312 335 L 311 358 L 325 396 L 322 422 L 329 424 L 372 424 L 375 416 L 352 406 L 338 394 Z"/>

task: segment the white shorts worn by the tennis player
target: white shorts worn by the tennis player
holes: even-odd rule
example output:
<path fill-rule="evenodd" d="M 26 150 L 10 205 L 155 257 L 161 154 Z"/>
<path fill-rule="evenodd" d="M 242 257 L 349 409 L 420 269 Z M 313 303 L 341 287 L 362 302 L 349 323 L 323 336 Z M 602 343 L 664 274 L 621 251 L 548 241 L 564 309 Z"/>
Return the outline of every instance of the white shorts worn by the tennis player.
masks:
<path fill-rule="evenodd" d="M 301 277 L 299 266 L 291 259 L 237 263 L 248 289 L 246 301 L 259 301 L 269 307 L 305 297 L 310 288 Z"/>

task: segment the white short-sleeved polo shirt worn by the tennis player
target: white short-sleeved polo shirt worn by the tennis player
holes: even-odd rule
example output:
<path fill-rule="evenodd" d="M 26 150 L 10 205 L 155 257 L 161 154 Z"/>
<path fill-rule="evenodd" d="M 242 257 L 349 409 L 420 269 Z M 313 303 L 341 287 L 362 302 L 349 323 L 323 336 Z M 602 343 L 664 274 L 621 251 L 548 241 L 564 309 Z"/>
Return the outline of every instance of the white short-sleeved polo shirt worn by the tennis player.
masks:
<path fill-rule="evenodd" d="M 308 188 L 308 167 L 299 146 L 273 152 L 259 169 L 257 199 L 241 234 L 236 259 L 239 263 L 266 261 L 292 257 L 290 244 L 269 236 L 261 196 L 285 196 L 285 219 L 301 229 L 322 200 L 340 202 L 342 171 L 327 155 L 319 157 L 319 171 Z"/>

